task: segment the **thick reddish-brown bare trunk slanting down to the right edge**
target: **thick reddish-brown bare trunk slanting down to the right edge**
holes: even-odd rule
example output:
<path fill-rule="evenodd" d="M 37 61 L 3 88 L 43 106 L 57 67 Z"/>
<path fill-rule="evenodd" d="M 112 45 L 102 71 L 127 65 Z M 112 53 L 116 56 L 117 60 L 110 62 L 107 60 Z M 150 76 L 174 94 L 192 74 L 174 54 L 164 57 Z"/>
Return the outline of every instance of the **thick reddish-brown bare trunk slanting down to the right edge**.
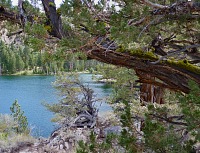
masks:
<path fill-rule="evenodd" d="M 160 88 L 168 88 L 174 91 L 189 93 L 188 81 L 194 80 L 200 84 L 200 73 L 189 69 L 179 67 L 177 63 L 168 64 L 167 62 L 151 64 L 150 59 L 146 57 L 137 57 L 128 52 L 117 52 L 91 46 L 82 48 L 90 58 L 104 63 L 124 66 L 134 69 L 139 77 L 140 83 L 151 84 Z M 88 51 L 89 50 L 89 51 Z M 152 60 L 151 60 L 152 61 Z M 187 67 L 187 64 L 185 64 Z M 149 76 L 149 77 L 146 77 Z M 155 79 L 154 79 L 155 78 Z"/>

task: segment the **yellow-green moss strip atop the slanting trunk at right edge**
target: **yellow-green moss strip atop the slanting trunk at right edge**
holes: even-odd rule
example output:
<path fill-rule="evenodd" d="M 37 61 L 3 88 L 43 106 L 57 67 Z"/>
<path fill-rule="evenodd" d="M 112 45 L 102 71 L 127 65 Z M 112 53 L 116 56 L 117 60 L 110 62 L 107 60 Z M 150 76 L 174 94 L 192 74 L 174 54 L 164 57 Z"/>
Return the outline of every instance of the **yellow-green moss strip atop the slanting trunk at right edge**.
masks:
<path fill-rule="evenodd" d="M 190 64 L 187 60 L 179 60 L 179 61 L 167 60 L 166 63 L 172 66 L 177 66 L 186 69 L 196 74 L 200 74 L 200 67 Z"/>

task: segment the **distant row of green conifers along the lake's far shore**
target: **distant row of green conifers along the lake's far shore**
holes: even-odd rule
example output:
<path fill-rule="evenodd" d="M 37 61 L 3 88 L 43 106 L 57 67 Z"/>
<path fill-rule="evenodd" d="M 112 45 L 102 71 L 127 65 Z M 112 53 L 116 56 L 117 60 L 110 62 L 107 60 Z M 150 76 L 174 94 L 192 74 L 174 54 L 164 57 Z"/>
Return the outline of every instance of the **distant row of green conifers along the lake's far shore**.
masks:
<path fill-rule="evenodd" d="M 27 46 L 15 47 L 0 42 L 0 73 L 33 71 L 33 74 L 56 74 L 58 71 L 93 71 L 100 62 L 95 60 L 77 60 L 58 55 L 61 52 L 33 52 Z"/>

